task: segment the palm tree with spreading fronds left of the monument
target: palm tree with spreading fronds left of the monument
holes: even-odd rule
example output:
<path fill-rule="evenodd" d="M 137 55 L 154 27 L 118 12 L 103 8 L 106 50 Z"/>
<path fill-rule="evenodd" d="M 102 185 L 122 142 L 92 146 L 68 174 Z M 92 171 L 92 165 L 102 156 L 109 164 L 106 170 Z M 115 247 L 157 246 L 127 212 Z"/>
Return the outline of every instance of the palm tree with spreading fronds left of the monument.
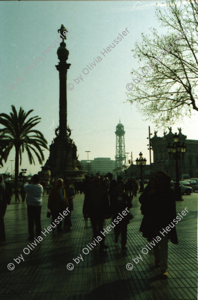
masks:
<path fill-rule="evenodd" d="M 14 105 L 11 105 L 12 112 L 10 115 L 5 113 L 0 114 L 0 124 L 4 128 L 0 129 L 0 165 L 8 159 L 9 153 L 13 147 L 15 147 L 15 188 L 18 188 L 18 176 L 19 176 L 19 157 L 20 165 L 22 162 L 22 153 L 27 151 L 29 163 L 35 164 L 32 152 L 36 155 L 39 163 L 43 163 L 44 154 L 41 147 L 48 149 L 47 141 L 44 138 L 42 132 L 33 129 L 41 120 L 38 116 L 31 117 L 28 120 L 27 117 L 33 109 L 27 113 L 22 107 L 17 114 Z"/>

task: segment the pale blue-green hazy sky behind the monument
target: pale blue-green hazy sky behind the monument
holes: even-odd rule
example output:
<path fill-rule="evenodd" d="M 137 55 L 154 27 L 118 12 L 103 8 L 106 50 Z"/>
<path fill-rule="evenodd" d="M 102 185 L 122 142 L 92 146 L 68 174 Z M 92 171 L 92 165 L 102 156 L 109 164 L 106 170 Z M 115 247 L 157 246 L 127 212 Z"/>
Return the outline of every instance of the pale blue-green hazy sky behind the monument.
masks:
<path fill-rule="evenodd" d="M 158 1 L 159 5 L 163 3 Z M 87 159 L 85 151 L 91 151 L 89 159 L 114 159 L 114 132 L 121 120 L 126 131 L 126 152 L 133 152 L 136 159 L 141 151 L 149 163 L 148 126 L 152 134 L 156 127 L 144 120 L 135 105 L 127 103 L 126 85 L 132 80 L 132 68 L 139 68 L 131 51 L 135 42 L 141 42 L 141 34 L 149 34 L 150 27 L 159 34 L 165 30 L 155 17 L 155 4 L 156 1 L 1 1 L 1 112 L 9 114 L 11 105 L 17 111 L 20 106 L 25 111 L 33 109 L 31 115 L 42 118 L 37 129 L 43 132 L 48 146 L 51 144 L 59 122 L 59 73 L 55 67 L 59 45 L 55 40 L 59 37 L 57 30 L 64 24 L 69 31 L 65 41 L 69 50 L 67 63 L 71 64 L 67 72 L 67 124 L 72 129 L 78 159 Z M 127 36 L 105 53 L 103 49 L 126 28 Z M 53 43 L 56 47 L 45 52 Z M 87 65 L 93 68 L 89 70 Z M 85 68 L 89 74 L 85 74 Z M 195 114 L 174 124 L 173 132 L 178 127 L 187 139 L 198 139 Z M 163 136 L 163 131 L 164 128 L 158 130 L 157 136 Z M 49 151 L 45 150 L 44 155 L 46 161 Z M 11 172 L 12 159 L 14 150 L 1 173 Z M 34 174 L 41 165 L 37 161 L 35 166 L 30 165 L 24 154 L 21 168 Z"/>

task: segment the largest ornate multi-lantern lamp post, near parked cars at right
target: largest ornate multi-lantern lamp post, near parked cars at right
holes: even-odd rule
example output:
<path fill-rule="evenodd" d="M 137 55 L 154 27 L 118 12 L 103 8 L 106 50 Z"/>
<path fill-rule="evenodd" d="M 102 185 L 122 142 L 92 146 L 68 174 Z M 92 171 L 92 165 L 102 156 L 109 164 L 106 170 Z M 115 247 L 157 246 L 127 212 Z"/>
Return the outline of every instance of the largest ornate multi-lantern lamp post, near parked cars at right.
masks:
<path fill-rule="evenodd" d="M 169 153 L 169 157 L 171 160 L 175 160 L 175 173 L 176 173 L 176 186 L 175 186 L 175 193 L 176 193 L 176 200 L 181 201 L 183 200 L 181 195 L 181 189 L 179 187 L 179 159 L 184 159 L 184 154 L 186 152 L 186 146 L 184 143 L 179 142 L 179 136 L 177 132 L 174 135 L 174 144 L 169 143 L 167 146 L 167 151 Z"/>

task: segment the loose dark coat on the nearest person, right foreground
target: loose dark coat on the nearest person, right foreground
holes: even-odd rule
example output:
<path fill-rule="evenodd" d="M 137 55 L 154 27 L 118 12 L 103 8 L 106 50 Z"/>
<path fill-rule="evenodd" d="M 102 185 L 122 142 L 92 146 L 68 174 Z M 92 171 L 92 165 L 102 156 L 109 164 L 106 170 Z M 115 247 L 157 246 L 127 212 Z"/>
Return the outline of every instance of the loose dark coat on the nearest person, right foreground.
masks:
<path fill-rule="evenodd" d="M 165 192 L 155 190 L 148 195 L 150 189 L 146 189 L 139 197 L 141 211 L 144 215 L 140 226 L 142 236 L 150 242 L 156 236 L 162 238 L 162 229 L 166 230 L 176 218 L 175 192 L 168 188 Z M 166 234 L 166 233 L 165 233 Z M 178 244 L 175 226 L 169 231 L 169 238 L 173 244 Z"/>

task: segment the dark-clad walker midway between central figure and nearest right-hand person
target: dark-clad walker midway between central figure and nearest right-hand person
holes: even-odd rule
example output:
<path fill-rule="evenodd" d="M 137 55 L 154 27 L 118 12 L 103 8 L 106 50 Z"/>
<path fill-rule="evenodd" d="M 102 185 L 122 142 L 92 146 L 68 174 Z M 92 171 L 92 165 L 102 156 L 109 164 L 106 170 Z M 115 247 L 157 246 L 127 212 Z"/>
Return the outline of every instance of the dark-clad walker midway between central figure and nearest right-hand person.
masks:
<path fill-rule="evenodd" d="M 122 211 L 126 208 L 132 208 L 130 197 L 126 193 L 124 193 L 124 184 L 117 184 L 116 192 L 111 197 L 110 208 L 112 212 L 112 219 L 116 219 L 118 214 L 122 213 Z M 129 223 L 129 215 L 127 215 L 114 227 L 115 243 L 118 242 L 118 237 L 121 234 L 122 250 L 127 250 L 127 225 Z"/>

